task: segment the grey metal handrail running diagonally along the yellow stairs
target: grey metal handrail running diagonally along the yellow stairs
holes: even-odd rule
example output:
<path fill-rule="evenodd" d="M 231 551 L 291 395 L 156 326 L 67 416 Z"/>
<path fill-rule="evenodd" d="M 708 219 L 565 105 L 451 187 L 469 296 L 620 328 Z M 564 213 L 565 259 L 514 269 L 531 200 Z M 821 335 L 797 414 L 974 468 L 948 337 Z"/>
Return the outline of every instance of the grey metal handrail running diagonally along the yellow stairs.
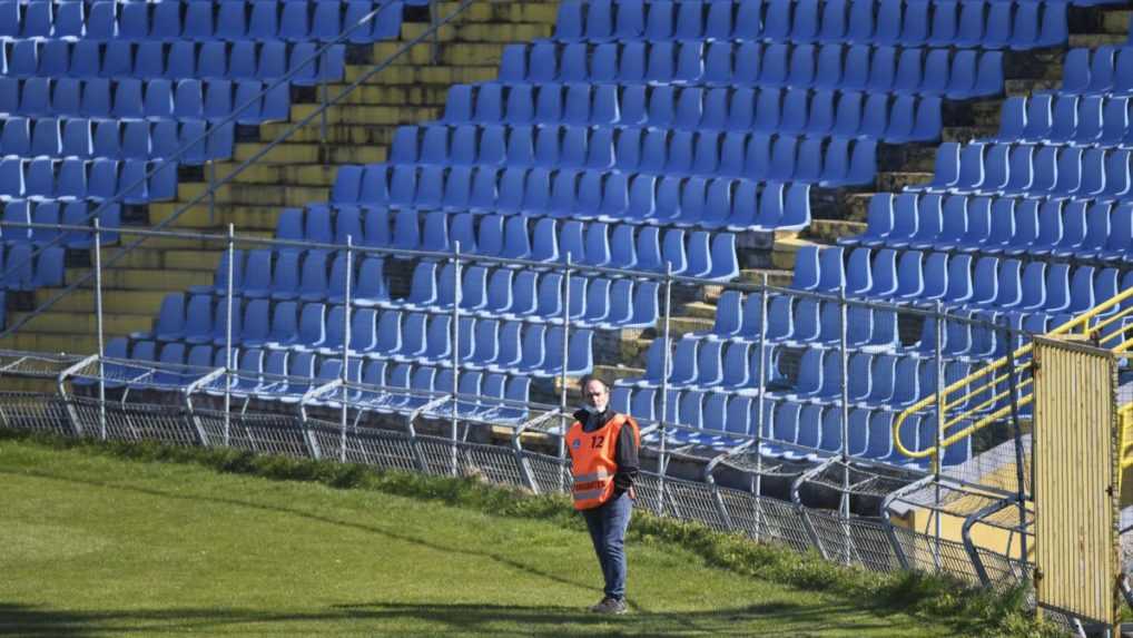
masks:
<path fill-rule="evenodd" d="M 326 136 L 326 112 L 327 112 L 327 110 L 330 108 L 335 107 L 340 102 L 342 102 L 343 100 L 346 100 L 357 88 L 359 88 L 361 85 L 364 85 L 366 82 L 368 82 L 372 77 L 374 77 L 378 73 L 382 73 L 383 70 L 385 70 L 394 61 L 397 61 L 402 56 L 404 56 L 406 53 L 408 53 L 417 44 L 423 43 L 423 42 L 428 42 L 429 45 L 433 46 L 434 51 L 435 51 L 435 48 L 437 45 L 436 44 L 437 40 L 436 40 L 435 36 L 438 35 L 440 29 L 443 28 L 444 26 L 449 25 L 450 23 L 452 23 L 458 17 L 460 17 L 471 5 L 474 5 L 477 1 L 480 1 L 480 0 L 461 0 L 459 2 L 459 5 L 448 16 L 445 16 L 443 18 L 440 18 L 440 19 L 432 19 L 431 24 L 429 24 L 429 27 L 427 29 L 425 29 L 423 33 L 420 33 L 418 36 L 414 37 L 412 40 L 407 41 L 406 43 L 403 43 L 390 57 L 387 57 L 385 60 L 383 60 L 383 61 L 374 65 L 366 73 L 361 74 L 356 80 L 353 80 L 352 83 L 348 84 L 346 86 L 346 88 L 343 88 L 340 93 L 338 93 L 333 97 L 329 97 L 326 84 L 325 84 L 324 80 L 321 80 L 322 82 L 321 90 L 320 90 L 321 104 L 318 105 L 317 109 L 315 109 L 314 111 L 312 111 L 306 117 L 301 118 L 299 121 L 292 124 L 283 133 L 281 133 L 274 139 L 272 139 L 271 142 L 269 142 L 267 144 L 265 144 L 262 148 L 259 148 L 258 151 L 256 151 L 250 158 L 248 158 L 247 160 L 240 162 L 227 176 L 224 176 L 224 177 L 222 177 L 220 179 L 216 179 L 214 172 L 212 171 L 212 164 L 210 164 L 208 187 L 204 192 L 202 192 L 199 195 L 193 197 L 187 203 L 180 205 L 176 211 L 173 211 L 172 213 L 170 213 L 169 215 L 167 215 L 165 218 L 163 218 L 161 221 L 154 223 L 152 228 L 155 229 L 155 230 L 161 230 L 161 229 L 168 228 L 173 222 L 176 222 L 178 219 L 180 219 L 180 216 L 184 213 L 186 213 L 187 211 L 194 209 L 195 206 L 197 206 L 198 204 L 201 204 L 202 202 L 204 202 L 206 199 L 208 201 L 210 211 L 211 211 L 212 206 L 214 204 L 215 194 L 216 194 L 216 192 L 220 188 L 222 188 L 223 186 L 227 186 L 228 184 L 232 182 L 238 176 L 240 176 L 241 173 L 244 173 L 248 168 L 250 168 L 253 165 L 256 165 L 269 153 L 271 153 L 272 150 L 274 150 L 280 144 L 283 144 L 284 142 L 287 142 L 288 139 L 290 139 L 297 131 L 299 131 L 300 129 L 307 127 L 308 125 L 310 125 L 316 119 L 320 120 L 321 138 L 325 143 L 325 136 Z M 219 121 L 210 122 L 210 125 L 206 127 L 206 129 L 205 129 L 205 131 L 203 134 L 201 134 L 199 136 L 197 136 L 191 142 L 185 144 L 184 146 L 180 146 L 179 148 L 177 148 L 171 155 L 169 155 L 167 158 L 161 158 L 161 159 L 157 159 L 157 160 L 154 160 L 153 162 L 151 162 L 151 169 L 148 171 L 146 171 L 144 176 L 142 176 L 140 178 L 138 178 L 130 186 L 128 186 L 126 188 L 120 188 L 119 192 L 116 193 L 112 197 L 102 201 L 93 211 L 91 211 L 90 213 L 87 213 L 87 216 L 85 218 L 84 221 L 86 221 L 86 222 L 96 221 L 100 218 L 100 215 L 103 213 L 103 211 L 107 211 L 108 209 L 110 209 L 114 204 L 122 203 L 125 201 L 125 198 L 126 198 L 126 196 L 127 196 L 128 193 L 130 193 L 134 189 L 136 189 L 136 188 L 145 185 L 150 180 L 150 178 L 152 178 L 153 176 L 157 175 L 162 170 L 167 170 L 170 167 L 174 167 L 176 162 L 180 158 L 182 158 L 186 153 L 190 152 L 196 145 L 205 143 L 221 127 L 235 125 L 236 121 L 240 118 L 241 113 L 244 113 L 245 111 L 247 111 L 249 108 L 252 108 L 253 105 L 255 105 L 257 102 L 259 102 L 259 101 L 264 100 L 265 97 L 267 97 L 273 91 L 275 91 L 276 88 L 283 87 L 283 86 L 290 86 L 290 82 L 291 82 L 291 79 L 293 77 L 296 77 L 297 75 L 299 75 L 305 68 L 307 68 L 307 67 L 316 63 L 321 59 L 324 59 L 326 57 L 327 52 L 333 46 L 338 46 L 338 45 L 344 44 L 350 39 L 350 36 L 358 28 L 360 28 L 360 27 L 363 27 L 365 25 L 368 25 L 382 11 L 382 9 L 383 9 L 383 6 L 376 6 L 375 9 L 373 9 L 369 14 L 363 16 L 357 23 L 355 23 L 353 25 L 350 25 L 348 27 L 344 27 L 343 31 L 339 34 L 338 37 L 335 37 L 334 40 L 324 42 L 314 53 L 312 53 L 308 58 L 304 59 L 301 62 L 299 62 L 297 66 L 295 66 L 291 70 L 289 70 L 282 77 L 275 79 L 274 82 L 269 83 L 267 86 L 259 94 L 257 94 L 256 96 L 249 99 L 244 104 L 240 104 L 238 108 L 235 109 L 235 111 L 231 114 L 229 114 L 228 117 L 225 117 L 224 119 L 221 119 Z M 212 216 L 212 213 L 210 213 L 210 216 Z M 83 230 L 88 230 L 88 228 L 84 228 Z M 23 261 L 20 261 L 17 264 L 10 264 L 10 263 L 5 264 L 5 270 L 3 270 L 3 273 L 0 274 L 0 280 L 6 279 L 7 277 L 9 277 L 10 273 L 15 272 L 16 270 L 18 270 L 20 267 L 28 266 L 29 263 L 33 260 L 35 260 L 35 257 L 37 255 L 40 255 L 43 250 L 45 250 L 46 248 L 49 248 L 51 246 L 59 245 L 59 243 L 62 241 L 62 237 L 63 236 L 59 236 L 59 237 L 52 239 L 51 241 L 45 243 L 44 245 L 36 247 L 35 249 L 32 250 L 32 253 L 27 256 L 26 260 L 23 260 Z M 136 249 L 139 246 L 142 246 L 142 244 L 145 243 L 145 239 L 146 239 L 145 237 L 140 237 L 139 239 L 137 239 L 137 240 L 135 240 L 135 241 L 133 241 L 133 243 L 130 243 L 130 244 L 128 244 L 126 246 L 121 246 L 119 248 L 119 250 L 114 255 L 112 255 L 109 260 L 107 260 L 105 265 L 107 266 L 113 266 L 114 264 L 119 263 L 122 258 L 126 257 L 126 255 L 130 254 L 134 249 Z M 7 335 L 11 334 L 12 332 L 16 332 L 23 325 L 25 325 L 28 321 L 32 321 L 33 318 L 35 318 L 36 316 L 39 316 L 43 312 L 50 309 L 56 304 L 58 304 L 60 300 L 62 300 L 63 298 L 66 298 L 68 295 L 70 295 L 75 290 L 77 290 L 80 286 L 83 286 L 84 283 L 88 282 L 93 277 L 94 277 L 93 271 L 92 272 L 87 272 L 86 274 L 84 274 L 80 278 L 76 279 L 70 284 L 65 286 L 60 291 L 58 291 L 51 298 L 49 298 L 43 304 L 41 304 L 40 307 L 37 307 L 34 312 L 32 312 L 31 314 L 22 317 L 15 324 L 6 326 L 5 330 L 2 332 L 0 332 L 0 338 L 7 337 Z"/>

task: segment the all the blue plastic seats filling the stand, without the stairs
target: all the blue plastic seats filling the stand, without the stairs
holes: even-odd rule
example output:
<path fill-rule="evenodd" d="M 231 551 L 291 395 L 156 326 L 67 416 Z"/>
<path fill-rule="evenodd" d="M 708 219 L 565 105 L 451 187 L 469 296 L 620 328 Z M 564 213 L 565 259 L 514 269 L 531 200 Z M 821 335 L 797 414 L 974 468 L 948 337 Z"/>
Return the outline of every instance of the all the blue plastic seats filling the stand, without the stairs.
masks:
<path fill-rule="evenodd" d="M 34 6 L 0 8 L 9 39 L 0 110 L 11 116 L 0 136 L 6 219 L 75 219 L 58 218 L 71 199 L 91 206 L 131 185 L 199 135 L 201 122 L 230 116 L 241 95 L 373 7 L 160 0 L 42 16 Z M 351 41 L 394 35 L 400 10 L 384 5 L 373 31 Z M 460 391 L 478 397 L 460 403 L 462 414 L 521 420 L 526 410 L 500 401 L 526 402 L 533 382 L 563 366 L 571 376 L 591 372 L 604 332 L 656 325 L 655 280 L 583 273 L 570 279 L 564 308 L 557 272 L 468 265 L 458 296 L 451 264 L 417 258 L 408 290 L 393 294 L 387 273 L 406 260 L 348 264 L 324 245 L 349 237 L 450 252 L 459 243 L 470 257 L 731 281 L 738 236 L 808 228 L 815 193 L 876 186 L 881 145 L 942 139 L 952 101 L 1004 94 L 1013 51 L 1070 36 L 1070 3 L 1058 0 L 566 0 L 557 11 L 551 37 L 503 49 L 497 77 L 457 84 L 443 114 L 397 128 L 384 161 L 342 165 L 323 201 L 274 210 L 276 238 L 314 246 L 237 252 L 231 320 L 222 261 L 211 284 L 167 295 L 152 330 L 113 341 L 111 352 L 223 366 L 231 331 L 240 371 L 232 393 L 293 402 L 341 377 L 347 349 L 347 378 L 417 392 L 358 397 L 397 414 L 425 406 L 421 392 L 450 390 L 455 358 Z M 233 20 L 221 19 L 229 12 Z M 800 249 L 790 288 L 1033 331 L 1127 288 L 1127 51 L 1071 50 L 1059 90 L 1008 97 L 993 137 L 939 144 L 930 180 L 872 195 L 864 232 Z M 344 48 L 332 49 L 292 84 L 339 79 L 344 59 Z M 238 122 L 287 119 L 289 88 Z M 221 131 L 179 161 L 230 156 L 231 138 L 231 128 Z M 173 198 L 177 167 L 164 167 L 125 203 Z M 45 236 L 5 240 L 11 262 Z M 46 254 L 6 288 L 60 283 L 61 252 Z M 349 337 L 348 267 L 360 286 Z M 774 441 L 768 456 L 802 461 L 843 448 L 835 406 L 845 389 L 854 456 L 923 465 L 896 452 L 892 428 L 896 411 L 937 386 L 934 321 L 908 340 L 895 311 L 851 308 L 844 378 L 838 304 L 775 295 L 766 317 L 760 309 L 758 295 L 724 294 L 710 330 L 675 340 L 670 369 L 664 341 L 653 341 L 644 374 L 616 382 L 614 406 L 658 418 L 664 380 L 665 414 L 687 426 L 670 433 L 675 443 L 732 446 L 761 423 Z M 939 346 L 946 383 L 1008 348 L 1000 333 L 959 322 Z M 191 378 L 160 372 L 126 386 Z M 208 389 L 223 392 L 223 383 Z M 913 419 L 900 436 L 921 450 L 934 427 Z M 970 442 L 953 445 L 944 463 L 970 457 Z"/>

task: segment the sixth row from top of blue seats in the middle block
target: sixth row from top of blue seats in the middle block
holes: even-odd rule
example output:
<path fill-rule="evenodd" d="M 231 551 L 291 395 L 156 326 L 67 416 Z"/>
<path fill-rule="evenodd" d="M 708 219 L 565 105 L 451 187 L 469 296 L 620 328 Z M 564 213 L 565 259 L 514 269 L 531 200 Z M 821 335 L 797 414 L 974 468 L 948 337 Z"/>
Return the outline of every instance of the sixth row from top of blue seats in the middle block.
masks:
<path fill-rule="evenodd" d="M 450 226 L 451 220 L 451 226 Z M 451 253 L 460 243 L 462 254 L 529 260 L 547 264 L 564 263 L 570 256 L 577 265 L 664 272 L 672 263 L 676 272 L 700 272 L 707 266 L 713 279 L 730 279 L 739 272 L 735 237 L 682 229 L 661 231 L 628 223 L 586 222 L 514 215 L 450 215 L 431 211 L 424 219 L 417 211 L 402 210 L 393 218 L 392 230 L 378 228 L 382 212 L 367 216 L 365 233 L 357 209 L 342 209 L 332 215 L 322 206 L 286 209 L 275 229 L 278 239 L 344 244 L 348 237 L 357 245 L 393 247 L 407 250 Z M 332 228 L 333 227 L 333 228 Z M 704 275 L 705 273 L 700 273 Z"/>

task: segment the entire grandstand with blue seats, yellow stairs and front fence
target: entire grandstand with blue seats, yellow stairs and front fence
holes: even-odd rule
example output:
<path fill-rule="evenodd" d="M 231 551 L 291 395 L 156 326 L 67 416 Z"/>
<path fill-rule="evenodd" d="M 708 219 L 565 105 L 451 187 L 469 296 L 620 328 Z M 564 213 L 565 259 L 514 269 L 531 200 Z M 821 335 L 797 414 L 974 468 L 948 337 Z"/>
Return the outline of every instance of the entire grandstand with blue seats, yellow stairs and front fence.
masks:
<path fill-rule="evenodd" d="M 537 491 L 599 374 L 653 509 L 1015 582 L 1016 348 L 1127 325 L 1128 9 L 0 1 L 3 369 L 65 429 Z"/>

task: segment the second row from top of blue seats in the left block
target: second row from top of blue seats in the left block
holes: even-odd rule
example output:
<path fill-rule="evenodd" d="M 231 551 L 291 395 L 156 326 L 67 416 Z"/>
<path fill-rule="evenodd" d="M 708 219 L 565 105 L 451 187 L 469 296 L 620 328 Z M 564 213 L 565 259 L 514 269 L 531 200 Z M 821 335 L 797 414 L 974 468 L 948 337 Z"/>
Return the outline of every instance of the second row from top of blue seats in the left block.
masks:
<path fill-rule="evenodd" d="M 317 51 L 318 45 L 314 42 L 100 43 L 90 40 L 17 40 L 0 46 L 0 74 L 14 78 L 270 82 L 297 71 L 290 82 L 298 86 L 341 79 L 346 68 L 346 48 L 334 45 L 308 63 Z"/>

